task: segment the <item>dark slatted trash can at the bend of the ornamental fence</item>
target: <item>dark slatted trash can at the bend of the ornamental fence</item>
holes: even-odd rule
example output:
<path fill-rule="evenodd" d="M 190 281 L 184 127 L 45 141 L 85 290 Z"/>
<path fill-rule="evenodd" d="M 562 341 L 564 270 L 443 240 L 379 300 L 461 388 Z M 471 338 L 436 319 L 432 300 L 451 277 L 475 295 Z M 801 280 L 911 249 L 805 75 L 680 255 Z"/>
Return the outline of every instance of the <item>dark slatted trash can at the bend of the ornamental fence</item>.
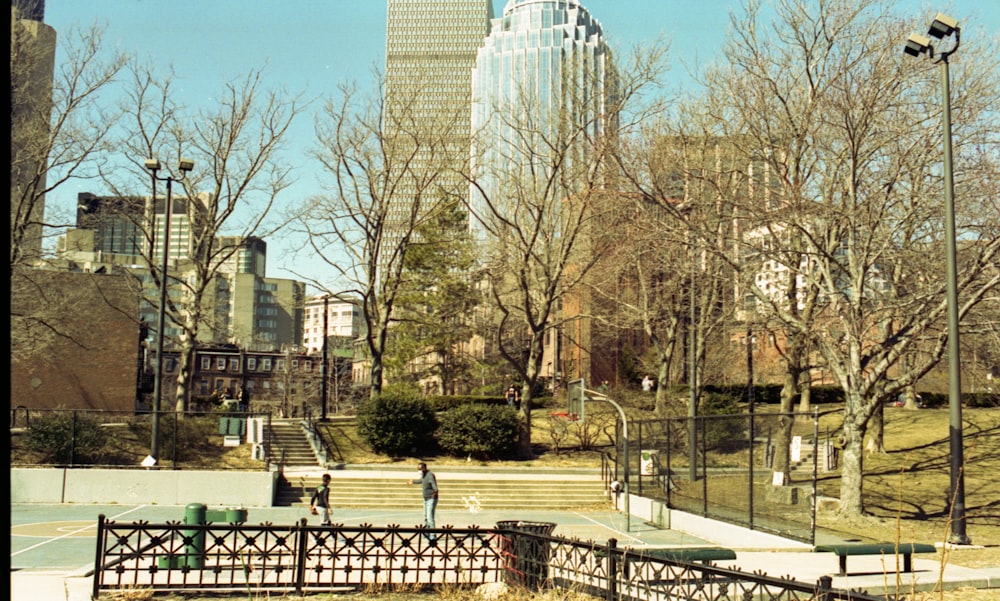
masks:
<path fill-rule="evenodd" d="M 539 590 L 549 577 L 551 549 L 546 538 L 555 530 L 552 522 L 503 520 L 497 522 L 502 532 L 500 553 L 509 585 Z"/>

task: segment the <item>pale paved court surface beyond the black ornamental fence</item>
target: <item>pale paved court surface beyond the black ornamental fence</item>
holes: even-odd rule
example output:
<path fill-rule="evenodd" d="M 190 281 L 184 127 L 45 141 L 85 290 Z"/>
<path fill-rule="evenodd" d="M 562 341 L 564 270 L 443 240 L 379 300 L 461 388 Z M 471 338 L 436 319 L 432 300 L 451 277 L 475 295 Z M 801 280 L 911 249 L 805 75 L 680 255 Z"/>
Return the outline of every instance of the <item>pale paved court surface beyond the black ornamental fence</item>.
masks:
<path fill-rule="evenodd" d="M 209 507 L 208 509 L 225 509 Z M 270 522 L 291 524 L 299 519 L 315 520 L 303 507 L 249 508 L 251 524 Z M 117 521 L 163 523 L 180 521 L 183 506 L 163 505 L 11 505 L 11 599 L 12 601 L 88 601 L 93 584 L 96 531 L 99 515 Z M 336 509 L 334 523 L 347 526 L 419 525 L 421 508 L 399 511 Z M 945 588 L 961 586 L 1000 587 L 1000 566 L 974 570 L 948 564 L 942 566 L 931 555 L 914 555 L 912 574 L 887 578 L 895 571 L 894 557 L 857 556 L 849 560 L 850 576 L 836 576 L 837 558 L 828 553 L 811 553 L 807 545 L 790 542 L 764 550 L 770 542 L 732 535 L 726 540 L 706 540 L 683 532 L 664 530 L 621 512 L 608 509 L 594 512 L 552 511 L 439 511 L 438 526 L 493 527 L 498 521 L 524 520 L 556 524 L 555 536 L 607 543 L 611 538 L 620 547 L 724 546 L 737 551 L 737 559 L 718 562 L 720 566 L 770 576 L 792 576 L 815 583 L 821 576 L 833 576 L 835 588 L 861 589 L 879 593 L 888 588 L 927 590 L 943 583 Z M 720 528 L 720 531 L 723 529 Z M 774 541 L 775 539 L 765 539 Z M 826 541 L 823 541 L 826 542 Z M 960 552 L 960 551 L 958 551 Z M 888 582 L 887 582 L 888 580 Z"/>

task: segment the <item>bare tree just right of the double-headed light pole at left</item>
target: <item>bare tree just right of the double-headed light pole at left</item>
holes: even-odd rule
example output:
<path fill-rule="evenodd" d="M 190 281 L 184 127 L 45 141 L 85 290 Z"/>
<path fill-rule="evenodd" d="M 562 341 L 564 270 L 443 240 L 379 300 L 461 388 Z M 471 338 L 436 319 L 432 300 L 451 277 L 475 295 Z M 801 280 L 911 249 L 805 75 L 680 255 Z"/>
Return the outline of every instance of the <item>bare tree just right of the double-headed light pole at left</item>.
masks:
<path fill-rule="evenodd" d="M 155 288 L 160 278 L 169 277 L 170 287 L 178 292 L 167 295 L 166 315 L 180 331 L 175 341 L 180 354 L 176 409 L 183 413 L 190 402 L 192 362 L 202 331 L 226 327 L 215 318 L 216 279 L 240 246 L 222 243 L 220 237 L 245 240 L 263 235 L 268 227 L 275 201 L 290 184 L 291 168 L 281 161 L 280 150 L 302 103 L 284 92 L 263 89 L 262 73 L 254 70 L 227 82 L 212 109 L 187 114 L 172 101 L 171 75 L 160 76 L 139 63 L 133 63 L 130 72 L 126 102 L 131 124 L 120 141 L 127 153 L 121 163 L 130 168 L 109 173 L 105 181 L 121 195 L 135 190 L 134 182 L 150 181 L 143 168 L 146 158 L 162 160 L 165 169 L 181 158 L 194 161 L 191 175 L 177 182 L 180 189 L 175 192 L 191 225 L 188 258 L 176 265 L 176 273 L 161 273 L 153 257 L 152 202 L 143 219 L 144 252 Z M 122 172 L 130 174 L 126 184 Z"/>

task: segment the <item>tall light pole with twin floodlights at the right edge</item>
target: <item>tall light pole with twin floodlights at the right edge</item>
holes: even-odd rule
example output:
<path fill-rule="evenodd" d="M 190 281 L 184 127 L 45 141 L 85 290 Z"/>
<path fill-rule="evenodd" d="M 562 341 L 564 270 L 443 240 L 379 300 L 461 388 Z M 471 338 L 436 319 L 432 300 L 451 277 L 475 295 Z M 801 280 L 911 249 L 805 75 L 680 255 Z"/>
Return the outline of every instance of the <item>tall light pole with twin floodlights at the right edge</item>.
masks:
<path fill-rule="evenodd" d="M 945 204 L 945 270 L 948 294 L 948 407 L 949 442 L 951 451 L 951 535 L 949 541 L 958 545 L 970 544 L 965 534 L 965 466 L 962 449 L 962 370 L 958 344 L 958 283 L 955 249 L 955 198 L 954 177 L 951 162 L 951 82 L 948 74 L 948 59 L 958 50 L 961 29 L 958 21 L 948 15 L 938 13 L 931 22 L 927 34 L 942 39 L 955 35 L 955 45 L 947 52 L 934 55 L 930 38 L 911 34 L 903 51 L 910 56 L 927 54 L 941 65 L 941 104 L 944 129 L 944 204 Z"/>

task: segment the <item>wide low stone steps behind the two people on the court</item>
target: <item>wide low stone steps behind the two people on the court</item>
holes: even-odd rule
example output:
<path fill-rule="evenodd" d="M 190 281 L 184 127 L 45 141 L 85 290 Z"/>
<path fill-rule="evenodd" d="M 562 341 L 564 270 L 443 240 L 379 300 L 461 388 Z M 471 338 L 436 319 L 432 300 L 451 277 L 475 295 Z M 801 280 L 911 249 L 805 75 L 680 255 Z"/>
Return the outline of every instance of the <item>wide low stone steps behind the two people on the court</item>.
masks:
<path fill-rule="evenodd" d="M 600 470 L 523 468 L 497 472 L 471 468 L 434 468 L 441 496 L 438 509 L 592 508 L 609 502 Z M 398 508 L 421 503 L 420 487 L 409 482 L 415 468 L 356 466 L 328 472 L 330 503 L 336 507 Z M 276 506 L 308 505 L 322 472 L 284 472 L 278 482 Z"/>

